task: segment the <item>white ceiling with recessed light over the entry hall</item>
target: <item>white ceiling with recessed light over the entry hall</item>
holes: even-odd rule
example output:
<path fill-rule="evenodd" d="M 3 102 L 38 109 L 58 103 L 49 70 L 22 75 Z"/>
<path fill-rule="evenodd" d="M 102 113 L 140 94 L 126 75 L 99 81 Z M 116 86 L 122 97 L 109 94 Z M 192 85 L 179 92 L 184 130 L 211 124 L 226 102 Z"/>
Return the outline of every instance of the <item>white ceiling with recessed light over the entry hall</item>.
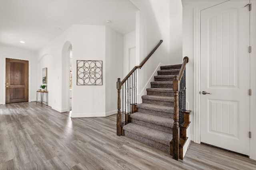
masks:
<path fill-rule="evenodd" d="M 38 51 L 73 24 L 126 34 L 135 30 L 137 10 L 130 0 L 0 0 L 0 45 Z"/>

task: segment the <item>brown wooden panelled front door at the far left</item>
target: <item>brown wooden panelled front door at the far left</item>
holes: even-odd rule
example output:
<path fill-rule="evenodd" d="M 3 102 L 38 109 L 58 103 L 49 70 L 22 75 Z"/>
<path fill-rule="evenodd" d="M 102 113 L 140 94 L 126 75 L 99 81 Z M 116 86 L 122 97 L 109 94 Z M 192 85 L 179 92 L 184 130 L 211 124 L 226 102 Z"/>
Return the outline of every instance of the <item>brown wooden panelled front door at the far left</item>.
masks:
<path fill-rule="evenodd" d="M 6 59 L 6 104 L 28 102 L 28 61 Z"/>

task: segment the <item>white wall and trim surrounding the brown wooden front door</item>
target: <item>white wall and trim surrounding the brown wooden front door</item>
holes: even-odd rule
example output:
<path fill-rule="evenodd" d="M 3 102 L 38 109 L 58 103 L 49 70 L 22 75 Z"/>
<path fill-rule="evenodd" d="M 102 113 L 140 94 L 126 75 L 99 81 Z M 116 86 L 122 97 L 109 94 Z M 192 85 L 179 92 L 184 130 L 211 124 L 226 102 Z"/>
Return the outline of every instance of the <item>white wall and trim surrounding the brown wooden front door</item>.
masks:
<path fill-rule="evenodd" d="M 29 61 L 29 101 L 36 101 L 36 53 L 34 51 L 0 46 L 0 104 L 5 104 L 5 59 Z"/>

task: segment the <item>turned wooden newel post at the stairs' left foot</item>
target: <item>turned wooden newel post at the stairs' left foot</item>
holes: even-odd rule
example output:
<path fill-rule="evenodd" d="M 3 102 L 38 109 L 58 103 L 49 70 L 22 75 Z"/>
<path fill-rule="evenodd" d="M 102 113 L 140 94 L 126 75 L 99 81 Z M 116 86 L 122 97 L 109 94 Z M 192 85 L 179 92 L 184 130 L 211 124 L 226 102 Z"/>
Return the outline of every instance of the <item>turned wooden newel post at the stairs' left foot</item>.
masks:
<path fill-rule="evenodd" d="M 117 79 L 116 88 L 117 88 L 117 114 L 116 114 L 116 135 L 122 135 L 122 114 L 121 114 L 121 98 L 120 98 L 120 78 Z"/>

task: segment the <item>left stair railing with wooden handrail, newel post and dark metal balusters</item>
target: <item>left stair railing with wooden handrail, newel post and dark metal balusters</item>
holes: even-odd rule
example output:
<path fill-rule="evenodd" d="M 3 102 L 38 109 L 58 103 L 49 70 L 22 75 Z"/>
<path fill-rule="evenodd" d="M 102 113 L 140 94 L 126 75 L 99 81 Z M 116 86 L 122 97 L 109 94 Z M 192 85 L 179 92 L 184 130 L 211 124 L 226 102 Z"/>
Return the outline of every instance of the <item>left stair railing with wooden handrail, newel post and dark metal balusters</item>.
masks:
<path fill-rule="evenodd" d="M 118 78 L 118 81 L 116 82 L 116 88 L 117 88 L 117 115 L 116 115 L 116 135 L 120 136 L 120 135 L 124 135 L 124 131 L 122 126 L 124 125 L 124 117 L 125 117 L 125 123 L 127 122 L 126 120 L 126 115 L 124 116 L 124 108 L 121 114 L 121 88 L 124 85 L 126 88 L 126 84 L 127 84 L 127 94 L 130 95 L 130 101 L 127 101 L 126 103 L 128 103 L 127 105 L 134 105 L 136 104 L 136 102 L 134 102 L 131 99 L 135 99 L 136 100 L 136 70 L 138 68 L 142 68 L 142 66 L 148 61 L 148 59 L 154 54 L 154 52 L 156 51 L 156 49 L 161 45 L 161 43 L 163 42 L 163 40 L 160 40 L 160 42 L 156 45 L 156 47 L 151 51 L 151 53 L 140 63 L 139 66 L 135 66 L 134 68 L 132 68 L 132 70 L 127 74 L 127 76 L 125 76 L 125 78 L 120 81 L 120 78 Z M 127 82 L 127 83 L 126 83 Z M 129 82 L 129 83 L 128 83 Z M 135 82 L 135 83 L 134 83 Z M 131 83 L 134 85 L 131 86 Z M 129 88 L 128 88 L 129 86 Z M 126 96 L 126 89 L 122 90 L 122 93 L 124 93 L 125 91 L 125 96 Z M 135 93 L 135 95 L 134 95 Z M 124 94 L 123 94 L 123 100 L 124 100 Z M 137 100 L 136 100 L 137 101 Z M 133 103 L 134 102 L 134 103 Z M 126 106 L 123 106 L 126 107 Z M 128 109 L 129 110 L 129 109 Z M 133 110 L 130 109 L 130 114 L 133 112 Z M 125 113 L 126 114 L 126 113 Z M 123 121 L 122 121 L 123 119 Z"/>

